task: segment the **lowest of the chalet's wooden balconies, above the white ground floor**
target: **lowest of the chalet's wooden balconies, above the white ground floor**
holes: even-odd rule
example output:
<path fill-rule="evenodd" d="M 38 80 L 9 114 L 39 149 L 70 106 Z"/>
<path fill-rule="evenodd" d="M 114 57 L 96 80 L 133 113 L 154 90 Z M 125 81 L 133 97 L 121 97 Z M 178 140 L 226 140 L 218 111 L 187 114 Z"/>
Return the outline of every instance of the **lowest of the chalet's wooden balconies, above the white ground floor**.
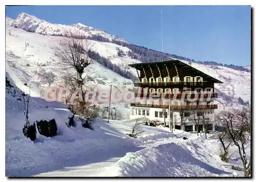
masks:
<path fill-rule="evenodd" d="M 132 107 L 153 107 L 153 108 L 165 108 L 168 109 L 168 105 L 157 105 L 157 104 L 141 104 L 141 103 L 131 103 Z M 179 110 L 203 110 L 203 109 L 218 109 L 217 104 L 209 104 L 209 105 L 186 105 L 186 106 L 170 106 L 171 109 L 173 108 L 174 111 L 179 111 Z"/>

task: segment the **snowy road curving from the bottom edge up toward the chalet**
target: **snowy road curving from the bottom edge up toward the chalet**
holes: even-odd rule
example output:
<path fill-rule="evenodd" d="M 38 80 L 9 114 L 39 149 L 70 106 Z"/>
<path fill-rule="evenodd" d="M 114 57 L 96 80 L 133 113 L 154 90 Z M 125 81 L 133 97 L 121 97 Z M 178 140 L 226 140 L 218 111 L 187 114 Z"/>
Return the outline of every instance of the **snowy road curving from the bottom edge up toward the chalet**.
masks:
<path fill-rule="evenodd" d="M 182 140 L 182 137 L 188 137 L 188 133 L 177 134 L 177 139 L 173 140 L 164 140 L 164 141 L 156 141 L 150 144 L 144 144 L 138 147 L 122 147 L 119 150 L 110 150 L 106 152 L 99 152 L 89 154 L 88 157 L 83 158 L 86 160 L 87 164 L 83 166 L 74 166 L 74 167 L 65 167 L 62 170 L 56 170 L 46 173 L 40 173 L 34 176 L 37 177 L 55 177 L 55 176 L 63 176 L 63 177 L 106 177 L 113 176 L 109 171 L 106 171 L 106 168 L 113 166 L 117 161 L 120 160 L 127 152 L 135 152 L 139 151 L 145 147 L 157 147 L 162 144 L 168 144 L 173 142 L 179 142 Z M 109 155 L 109 158 L 106 158 L 106 155 Z"/>

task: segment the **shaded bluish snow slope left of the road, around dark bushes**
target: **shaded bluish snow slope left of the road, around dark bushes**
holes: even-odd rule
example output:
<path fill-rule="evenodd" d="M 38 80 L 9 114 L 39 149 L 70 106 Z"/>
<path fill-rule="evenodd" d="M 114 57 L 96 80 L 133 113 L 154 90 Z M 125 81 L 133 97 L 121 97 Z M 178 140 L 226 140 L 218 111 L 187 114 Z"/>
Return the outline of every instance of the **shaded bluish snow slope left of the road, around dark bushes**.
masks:
<path fill-rule="evenodd" d="M 125 133 L 131 133 L 134 123 L 121 121 L 97 120 L 94 130 L 81 126 L 77 118 L 77 127 L 68 128 L 66 122 L 72 113 L 67 106 L 58 102 L 47 102 L 44 99 L 32 97 L 29 109 L 29 121 L 33 124 L 39 120 L 55 119 L 57 135 L 47 138 L 37 131 L 37 139 L 31 142 L 24 137 L 22 128 L 25 124 L 23 112 L 17 104 L 17 94 L 20 89 L 15 83 L 20 80 L 13 72 L 6 72 L 6 78 L 13 87 L 6 87 L 6 175 L 31 176 L 54 170 L 86 166 L 104 162 L 113 157 L 121 157 L 126 152 L 142 149 L 140 145 L 176 138 L 173 133 L 161 128 L 142 126 L 143 139 L 132 139 Z M 15 79 L 15 80 L 14 80 Z M 15 91 L 14 91 L 15 90 Z M 95 169 L 97 170 L 97 169 Z M 83 176 L 98 172 L 83 173 Z"/>

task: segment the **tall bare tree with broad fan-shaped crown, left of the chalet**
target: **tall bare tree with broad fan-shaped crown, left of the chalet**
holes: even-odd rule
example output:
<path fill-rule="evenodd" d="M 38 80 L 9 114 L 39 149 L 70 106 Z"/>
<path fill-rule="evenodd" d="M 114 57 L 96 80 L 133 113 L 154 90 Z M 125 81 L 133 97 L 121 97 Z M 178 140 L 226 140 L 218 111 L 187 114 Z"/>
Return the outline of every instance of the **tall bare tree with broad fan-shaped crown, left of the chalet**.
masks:
<path fill-rule="evenodd" d="M 80 88 L 83 93 L 83 85 L 86 80 L 83 74 L 86 67 L 92 62 L 88 55 L 92 47 L 93 44 L 90 40 L 81 39 L 78 33 L 69 32 L 66 37 L 59 41 L 59 46 L 55 48 L 57 69 L 71 92 Z"/>

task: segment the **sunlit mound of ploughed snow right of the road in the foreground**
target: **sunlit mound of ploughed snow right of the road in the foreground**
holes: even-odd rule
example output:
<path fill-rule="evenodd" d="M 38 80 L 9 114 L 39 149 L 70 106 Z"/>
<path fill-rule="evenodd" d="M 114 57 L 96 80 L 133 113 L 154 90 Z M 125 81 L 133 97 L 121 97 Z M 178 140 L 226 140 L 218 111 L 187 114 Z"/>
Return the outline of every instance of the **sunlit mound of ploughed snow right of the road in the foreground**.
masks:
<path fill-rule="evenodd" d="M 221 163 L 203 139 L 196 139 L 127 153 L 108 170 L 111 176 L 231 176 Z"/>

